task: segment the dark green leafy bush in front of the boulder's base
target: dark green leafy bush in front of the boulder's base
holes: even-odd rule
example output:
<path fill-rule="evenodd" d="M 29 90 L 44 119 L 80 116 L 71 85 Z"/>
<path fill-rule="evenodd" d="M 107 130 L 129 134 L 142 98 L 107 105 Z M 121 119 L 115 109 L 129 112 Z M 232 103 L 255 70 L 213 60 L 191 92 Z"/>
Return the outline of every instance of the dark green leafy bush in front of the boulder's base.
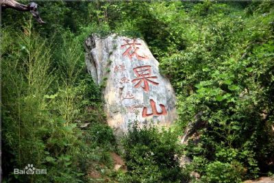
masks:
<path fill-rule="evenodd" d="M 171 130 L 158 130 L 153 122 L 142 127 L 138 121 L 129 125 L 122 145 L 129 173 L 122 182 L 182 182 L 187 171 L 179 167 L 182 155 L 179 139 Z M 184 174 L 185 173 L 185 174 Z"/>

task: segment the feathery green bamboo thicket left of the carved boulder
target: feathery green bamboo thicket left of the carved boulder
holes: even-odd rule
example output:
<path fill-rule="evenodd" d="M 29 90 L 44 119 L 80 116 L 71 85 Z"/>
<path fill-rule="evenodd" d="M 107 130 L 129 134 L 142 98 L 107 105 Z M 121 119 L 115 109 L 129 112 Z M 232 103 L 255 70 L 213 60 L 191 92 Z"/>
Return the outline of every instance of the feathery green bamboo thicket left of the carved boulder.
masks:
<path fill-rule="evenodd" d="M 31 26 L 3 29 L 4 181 L 88 182 L 90 169 L 112 169 L 108 151 L 116 150 L 101 93 L 84 69 L 77 37 L 64 32 L 60 45 L 52 45 Z M 52 58 L 53 46 L 60 60 Z M 47 175 L 13 174 L 27 164 Z"/>

